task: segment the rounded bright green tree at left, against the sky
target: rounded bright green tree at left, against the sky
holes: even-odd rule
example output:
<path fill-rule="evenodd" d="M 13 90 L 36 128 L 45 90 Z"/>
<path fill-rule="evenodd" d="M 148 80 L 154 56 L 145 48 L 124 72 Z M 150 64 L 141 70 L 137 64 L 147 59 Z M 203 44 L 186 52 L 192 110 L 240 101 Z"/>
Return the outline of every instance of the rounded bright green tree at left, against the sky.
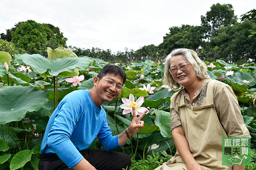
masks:
<path fill-rule="evenodd" d="M 23 48 L 29 54 L 40 53 L 46 55 L 46 48 L 52 49 L 58 46 L 66 47 L 67 38 L 63 37 L 58 27 L 51 24 L 36 23 L 33 20 L 19 22 L 14 28 L 1 34 L 1 38 L 15 44 L 19 48 Z"/>

